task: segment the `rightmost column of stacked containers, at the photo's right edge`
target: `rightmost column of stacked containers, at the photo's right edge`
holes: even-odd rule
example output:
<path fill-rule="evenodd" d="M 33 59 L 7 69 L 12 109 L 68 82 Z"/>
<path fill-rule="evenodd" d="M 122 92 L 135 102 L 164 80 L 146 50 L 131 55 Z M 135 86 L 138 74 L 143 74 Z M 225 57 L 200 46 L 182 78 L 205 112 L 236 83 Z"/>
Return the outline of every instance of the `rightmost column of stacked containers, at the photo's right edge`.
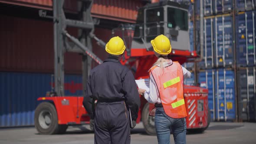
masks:
<path fill-rule="evenodd" d="M 238 83 L 238 117 L 256 121 L 256 10 L 252 0 L 240 3 L 246 10 L 236 13 L 236 65 Z"/>

